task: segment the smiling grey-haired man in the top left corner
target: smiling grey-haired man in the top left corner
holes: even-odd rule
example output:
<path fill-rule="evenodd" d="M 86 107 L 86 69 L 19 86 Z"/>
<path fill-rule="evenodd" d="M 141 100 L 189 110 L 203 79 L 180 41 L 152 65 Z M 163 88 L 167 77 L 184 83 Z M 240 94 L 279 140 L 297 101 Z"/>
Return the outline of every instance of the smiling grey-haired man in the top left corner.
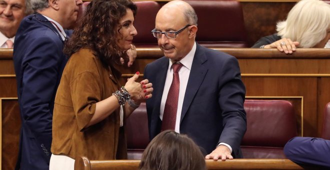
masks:
<path fill-rule="evenodd" d="M 0 0 L 0 48 L 12 48 L 20 21 L 32 12 L 28 0 Z"/>

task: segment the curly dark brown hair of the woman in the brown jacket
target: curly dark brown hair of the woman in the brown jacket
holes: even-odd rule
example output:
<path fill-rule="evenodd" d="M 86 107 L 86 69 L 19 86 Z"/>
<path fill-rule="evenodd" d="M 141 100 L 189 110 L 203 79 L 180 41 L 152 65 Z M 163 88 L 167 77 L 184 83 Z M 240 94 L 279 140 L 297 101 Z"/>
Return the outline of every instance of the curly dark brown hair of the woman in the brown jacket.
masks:
<path fill-rule="evenodd" d="M 92 0 L 65 42 L 63 52 L 71 56 L 80 48 L 90 48 L 104 66 L 119 64 L 120 57 L 127 60 L 126 50 L 116 43 L 117 36 L 122 36 L 119 21 L 127 8 L 135 17 L 137 7 L 130 0 Z"/>

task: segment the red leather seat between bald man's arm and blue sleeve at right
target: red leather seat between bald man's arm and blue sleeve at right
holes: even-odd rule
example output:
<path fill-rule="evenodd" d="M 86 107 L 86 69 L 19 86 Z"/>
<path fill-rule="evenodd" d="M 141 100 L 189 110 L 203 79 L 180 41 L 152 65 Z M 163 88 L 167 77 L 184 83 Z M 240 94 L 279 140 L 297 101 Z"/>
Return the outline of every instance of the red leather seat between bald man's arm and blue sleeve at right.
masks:
<path fill-rule="evenodd" d="M 247 130 L 241 142 L 244 158 L 285 158 L 283 147 L 297 136 L 293 106 L 285 100 L 245 100 Z"/>

